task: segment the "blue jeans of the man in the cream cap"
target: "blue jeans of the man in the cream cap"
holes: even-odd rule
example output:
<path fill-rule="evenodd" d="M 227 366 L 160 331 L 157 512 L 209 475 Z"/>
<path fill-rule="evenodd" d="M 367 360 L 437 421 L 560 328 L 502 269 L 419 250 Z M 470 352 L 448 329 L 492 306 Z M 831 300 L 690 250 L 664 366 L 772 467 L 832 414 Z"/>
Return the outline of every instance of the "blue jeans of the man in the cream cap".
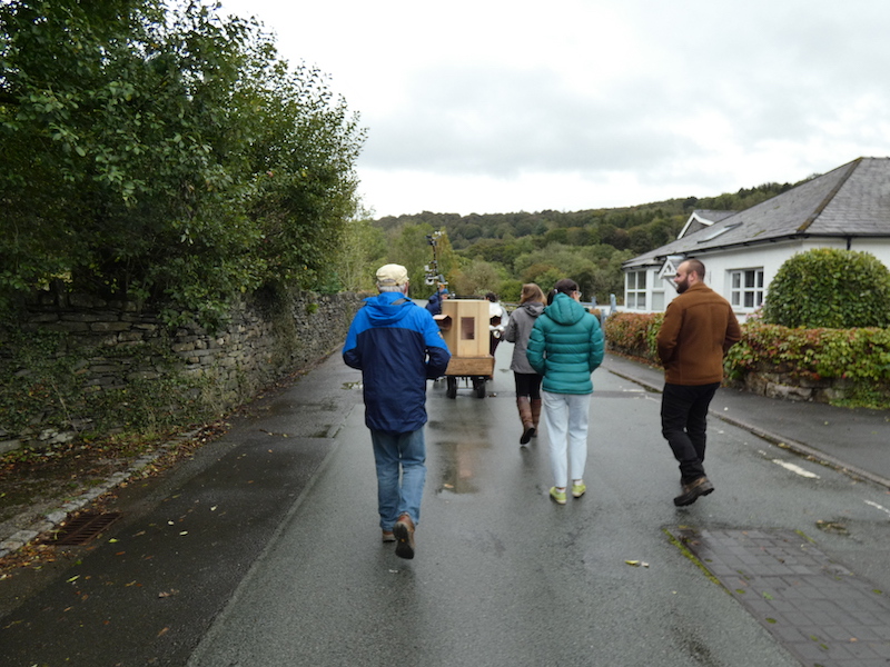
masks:
<path fill-rule="evenodd" d="M 421 522 L 421 500 L 426 481 L 424 429 L 407 434 L 370 431 L 377 465 L 377 509 L 380 528 L 390 531 L 403 514 Z M 400 479 L 399 479 L 400 472 Z"/>

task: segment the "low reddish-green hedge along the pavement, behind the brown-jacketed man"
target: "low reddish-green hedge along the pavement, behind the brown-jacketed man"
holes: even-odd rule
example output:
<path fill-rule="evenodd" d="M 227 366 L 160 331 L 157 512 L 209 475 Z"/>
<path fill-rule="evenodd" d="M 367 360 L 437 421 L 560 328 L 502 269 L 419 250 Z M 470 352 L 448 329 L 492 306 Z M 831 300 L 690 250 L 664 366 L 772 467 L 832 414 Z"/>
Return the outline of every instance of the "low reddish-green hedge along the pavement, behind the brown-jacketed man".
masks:
<path fill-rule="evenodd" d="M 660 366 L 662 313 L 617 312 L 605 322 L 609 349 Z M 730 380 L 782 372 L 801 380 L 847 380 L 846 405 L 890 408 L 890 329 L 791 329 L 749 320 L 724 362 Z"/>

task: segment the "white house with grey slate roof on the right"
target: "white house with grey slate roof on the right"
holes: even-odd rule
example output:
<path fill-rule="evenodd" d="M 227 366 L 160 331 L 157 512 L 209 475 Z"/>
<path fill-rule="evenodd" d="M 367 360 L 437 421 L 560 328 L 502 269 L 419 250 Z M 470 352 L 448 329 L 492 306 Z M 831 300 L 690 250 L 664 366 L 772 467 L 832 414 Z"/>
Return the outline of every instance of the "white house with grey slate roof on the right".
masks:
<path fill-rule="evenodd" d="M 784 261 L 813 248 L 874 255 L 890 267 L 890 158 L 859 158 L 744 211 L 695 211 L 675 241 L 625 261 L 624 310 L 661 312 L 688 258 L 744 319 Z"/>

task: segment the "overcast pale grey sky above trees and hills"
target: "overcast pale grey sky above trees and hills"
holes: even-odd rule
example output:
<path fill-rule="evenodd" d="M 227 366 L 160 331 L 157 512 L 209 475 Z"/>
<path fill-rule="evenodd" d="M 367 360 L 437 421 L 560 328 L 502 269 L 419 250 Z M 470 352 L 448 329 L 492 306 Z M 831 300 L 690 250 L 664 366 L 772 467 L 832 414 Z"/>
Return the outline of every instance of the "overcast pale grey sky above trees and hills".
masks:
<path fill-rule="evenodd" d="M 886 0 L 222 0 L 329 74 L 376 216 L 711 197 L 890 157 Z"/>

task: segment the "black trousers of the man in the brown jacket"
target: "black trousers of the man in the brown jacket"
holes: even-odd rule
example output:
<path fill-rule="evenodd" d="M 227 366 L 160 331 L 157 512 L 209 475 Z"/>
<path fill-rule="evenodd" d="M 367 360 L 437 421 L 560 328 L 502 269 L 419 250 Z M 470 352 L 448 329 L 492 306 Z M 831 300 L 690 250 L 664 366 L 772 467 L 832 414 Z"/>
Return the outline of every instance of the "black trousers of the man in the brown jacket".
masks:
<path fill-rule="evenodd" d="M 704 476 L 708 407 L 718 387 L 720 382 L 691 386 L 664 384 L 661 397 L 661 432 L 680 462 L 683 484 Z"/>

